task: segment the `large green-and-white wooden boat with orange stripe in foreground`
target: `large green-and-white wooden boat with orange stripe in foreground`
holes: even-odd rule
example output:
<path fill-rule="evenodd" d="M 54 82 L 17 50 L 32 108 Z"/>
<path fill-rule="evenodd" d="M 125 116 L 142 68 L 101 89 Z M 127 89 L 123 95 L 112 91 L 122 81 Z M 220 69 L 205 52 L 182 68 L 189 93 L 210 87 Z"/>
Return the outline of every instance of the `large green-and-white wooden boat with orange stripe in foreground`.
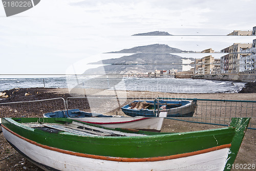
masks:
<path fill-rule="evenodd" d="M 109 129 L 68 118 L 3 118 L 6 140 L 44 170 L 229 170 L 250 118 L 195 132 Z"/>

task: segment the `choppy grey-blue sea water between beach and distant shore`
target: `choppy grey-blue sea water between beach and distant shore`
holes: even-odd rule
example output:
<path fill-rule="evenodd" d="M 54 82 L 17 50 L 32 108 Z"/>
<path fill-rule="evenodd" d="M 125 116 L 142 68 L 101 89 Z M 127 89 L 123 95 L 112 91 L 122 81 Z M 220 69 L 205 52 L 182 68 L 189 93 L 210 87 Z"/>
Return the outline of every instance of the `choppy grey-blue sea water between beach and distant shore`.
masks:
<path fill-rule="evenodd" d="M 0 91 L 14 88 L 85 88 L 166 93 L 235 93 L 245 82 L 138 77 L 0 78 Z"/>

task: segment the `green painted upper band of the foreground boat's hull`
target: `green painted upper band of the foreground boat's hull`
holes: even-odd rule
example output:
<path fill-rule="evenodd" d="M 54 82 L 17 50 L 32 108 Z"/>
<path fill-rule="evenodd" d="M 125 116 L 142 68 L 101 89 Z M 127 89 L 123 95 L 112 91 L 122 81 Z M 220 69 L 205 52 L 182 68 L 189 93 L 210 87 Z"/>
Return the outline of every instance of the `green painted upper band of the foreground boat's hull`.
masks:
<path fill-rule="evenodd" d="M 150 133 L 150 136 L 139 137 L 89 137 L 47 133 L 38 129 L 28 129 L 28 127 L 19 124 L 22 122 L 37 122 L 37 118 L 13 119 L 3 119 L 3 125 L 18 135 L 37 143 L 72 152 L 125 158 L 161 157 L 200 151 L 230 144 L 235 134 L 234 127 L 225 127 L 215 130 L 173 134 Z M 67 118 L 44 118 L 44 122 L 65 123 L 72 122 L 72 120 Z M 143 131 L 139 133 L 148 134 L 148 132 Z"/>

